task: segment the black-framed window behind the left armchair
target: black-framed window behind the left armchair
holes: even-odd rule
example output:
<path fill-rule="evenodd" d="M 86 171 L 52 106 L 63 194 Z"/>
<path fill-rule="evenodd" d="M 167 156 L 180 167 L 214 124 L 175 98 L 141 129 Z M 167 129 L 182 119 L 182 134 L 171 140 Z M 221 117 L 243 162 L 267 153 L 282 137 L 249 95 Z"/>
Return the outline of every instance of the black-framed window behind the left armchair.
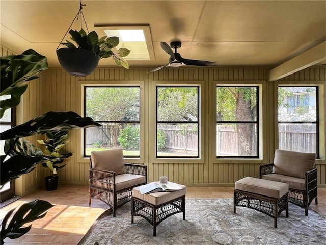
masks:
<path fill-rule="evenodd" d="M 85 129 L 84 156 L 120 146 L 140 157 L 140 86 L 85 86 L 84 115 L 101 127 Z"/>

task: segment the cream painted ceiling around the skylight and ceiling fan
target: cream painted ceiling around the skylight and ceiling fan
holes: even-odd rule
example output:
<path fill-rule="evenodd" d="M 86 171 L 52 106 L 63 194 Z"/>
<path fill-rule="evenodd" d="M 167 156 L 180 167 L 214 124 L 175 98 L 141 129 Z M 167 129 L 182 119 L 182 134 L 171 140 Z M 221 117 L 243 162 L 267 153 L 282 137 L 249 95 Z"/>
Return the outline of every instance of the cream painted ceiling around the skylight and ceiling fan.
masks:
<path fill-rule="evenodd" d="M 170 56 L 160 41 L 182 41 L 178 53 L 187 59 L 272 68 L 326 41 L 325 0 L 84 0 L 83 4 L 88 29 L 99 36 L 104 31 L 95 25 L 149 25 L 155 60 L 129 60 L 130 67 L 168 63 Z M 16 53 L 33 48 L 48 58 L 49 67 L 60 67 L 56 49 L 78 12 L 79 0 L 0 0 L 0 8 L 4 47 Z M 79 29 L 80 21 L 72 28 Z M 115 64 L 102 59 L 99 65 Z"/>

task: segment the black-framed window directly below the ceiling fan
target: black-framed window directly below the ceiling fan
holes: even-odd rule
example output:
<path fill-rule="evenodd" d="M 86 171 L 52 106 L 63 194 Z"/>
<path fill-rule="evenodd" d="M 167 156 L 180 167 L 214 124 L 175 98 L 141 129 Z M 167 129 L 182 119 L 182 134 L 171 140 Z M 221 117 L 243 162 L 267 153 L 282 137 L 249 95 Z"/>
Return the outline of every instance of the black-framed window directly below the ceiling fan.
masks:
<path fill-rule="evenodd" d="M 199 158 L 199 86 L 156 87 L 156 157 Z"/>

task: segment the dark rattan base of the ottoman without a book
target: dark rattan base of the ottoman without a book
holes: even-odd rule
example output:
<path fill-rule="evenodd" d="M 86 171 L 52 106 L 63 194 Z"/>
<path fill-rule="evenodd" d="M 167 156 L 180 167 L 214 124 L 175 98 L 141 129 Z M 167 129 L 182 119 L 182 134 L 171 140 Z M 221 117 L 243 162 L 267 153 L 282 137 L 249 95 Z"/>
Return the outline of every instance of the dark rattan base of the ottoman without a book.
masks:
<path fill-rule="evenodd" d="M 233 212 L 236 213 L 236 206 L 255 209 L 274 218 L 274 228 L 277 228 L 277 217 L 285 210 L 286 217 L 289 217 L 288 193 L 277 199 L 266 197 L 248 191 L 234 189 Z"/>

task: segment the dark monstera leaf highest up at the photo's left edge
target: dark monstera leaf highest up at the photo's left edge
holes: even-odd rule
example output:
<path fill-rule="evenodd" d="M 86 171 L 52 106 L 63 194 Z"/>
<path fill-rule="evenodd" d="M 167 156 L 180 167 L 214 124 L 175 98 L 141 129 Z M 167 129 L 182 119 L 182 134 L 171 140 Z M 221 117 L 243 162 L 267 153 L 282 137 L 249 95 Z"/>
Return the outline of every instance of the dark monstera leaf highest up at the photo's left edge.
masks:
<path fill-rule="evenodd" d="M 21 95 L 28 87 L 28 81 L 38 78 L 39 71 L 48 68 L 47 58 L 34 50 L 26 50 L 21 55 L 2 56 L 0 60 L 0 118 L 5 110 L 16 107 Z"/>

